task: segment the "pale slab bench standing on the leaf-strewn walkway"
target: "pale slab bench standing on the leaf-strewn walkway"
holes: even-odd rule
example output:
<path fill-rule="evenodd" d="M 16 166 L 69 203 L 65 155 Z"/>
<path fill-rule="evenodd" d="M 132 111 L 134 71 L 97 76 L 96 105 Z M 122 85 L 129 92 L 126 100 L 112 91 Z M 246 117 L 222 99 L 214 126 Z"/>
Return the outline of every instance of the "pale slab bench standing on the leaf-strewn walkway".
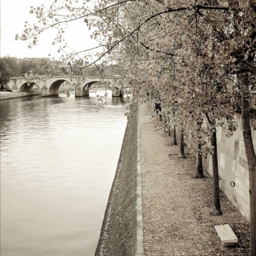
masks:
<path fill-rule="evenodd" d="M 214 226 L 218 237 L 222 241 L 223 246 L 229 246 L 229 245 L 234 245 L 235 243 L 238 243 L 238 238 L 234 234 L 232 228 L 228 225 L 219 225 L 219 226 Z"/>

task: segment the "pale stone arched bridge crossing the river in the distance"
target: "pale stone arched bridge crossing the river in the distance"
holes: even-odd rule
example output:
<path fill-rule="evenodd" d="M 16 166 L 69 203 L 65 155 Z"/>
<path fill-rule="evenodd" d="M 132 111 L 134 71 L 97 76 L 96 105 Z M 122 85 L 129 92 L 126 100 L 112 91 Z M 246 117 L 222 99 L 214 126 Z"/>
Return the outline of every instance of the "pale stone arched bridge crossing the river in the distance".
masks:
<path fill-rule="evenodd" d="M 122 96 L 122 77 L 112 76 L 104 77 L 104 81 L 110 81 L 112 88 L 112 97 Z M 51 77 L 39 77 L 31 82 L 27 82 L 26 78 L 11 77 L 10 82 L 7 84 L 13 92 L 25 92 L 31 91 L 32 87 L 36 84 L 42 90 L 42 97 L 55 96 L 59 94 L 59 87 L 64 82 L 70 84 L 82 84 L 75 86 L 75 97 L 89 95 L 89 88 L 91 85 L 97 82 L 104 82 L 102 77 L 73 77 L 72 81 L 70 76 L 51 76 Z"/>

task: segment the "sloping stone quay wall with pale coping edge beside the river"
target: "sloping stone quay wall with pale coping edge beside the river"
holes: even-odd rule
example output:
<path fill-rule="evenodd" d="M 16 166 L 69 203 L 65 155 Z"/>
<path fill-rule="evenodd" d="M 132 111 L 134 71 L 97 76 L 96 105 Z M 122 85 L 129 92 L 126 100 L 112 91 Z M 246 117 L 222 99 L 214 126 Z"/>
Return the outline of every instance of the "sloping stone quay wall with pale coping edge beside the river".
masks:
<path fill-rule="evenodd" d="M 129 118 L 95 256 L 143 256 L 140 132 Z"/>

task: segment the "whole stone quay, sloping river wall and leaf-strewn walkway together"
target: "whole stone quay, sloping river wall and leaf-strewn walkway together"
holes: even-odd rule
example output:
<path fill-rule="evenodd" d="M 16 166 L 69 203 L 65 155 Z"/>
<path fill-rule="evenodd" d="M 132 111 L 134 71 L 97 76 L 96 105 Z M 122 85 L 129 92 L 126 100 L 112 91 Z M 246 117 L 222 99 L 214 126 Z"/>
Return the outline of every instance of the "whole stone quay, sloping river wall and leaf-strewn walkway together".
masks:
<path fill-rule="evenodd" d="M 145 112 L 143 104 L 128 122 L 95 256 L 248 256 L 248 222 L 222 192 L 223 215 L 210 214 L 212 177 L 195 179 L 196 158 L 187 147 L 179 158 L 172 136 L 156 131 L 158 117 Z M 214 225 L 224 224 L 237 245 L 222 245 Z"/>

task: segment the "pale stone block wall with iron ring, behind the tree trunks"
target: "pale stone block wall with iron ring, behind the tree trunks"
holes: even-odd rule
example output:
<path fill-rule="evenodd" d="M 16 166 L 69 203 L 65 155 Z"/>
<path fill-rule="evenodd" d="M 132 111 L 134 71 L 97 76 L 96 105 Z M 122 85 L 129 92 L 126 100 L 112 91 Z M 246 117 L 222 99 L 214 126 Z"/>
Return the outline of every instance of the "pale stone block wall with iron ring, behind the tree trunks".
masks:
<path fill-rule="evenodd" d="M 233 136 L 226 137 L 227 127 L 217 127 L 217 150 L 219 185 L 231 203 L 249 221 L 250 201 L 249 201 L 249 172 L 247 158 L 245 154 L 242 118 L 236 116 L 237 130 Z M 254 150 L 256 151 L 256 131 L 252 130 Z M 196 145 L 186 140 L 187 146 L 196 151 Z M 212 157 L 203 159 L 203 167 L 212 175 Z M 230 182 L 234 182 L 232 187 Z"/>

